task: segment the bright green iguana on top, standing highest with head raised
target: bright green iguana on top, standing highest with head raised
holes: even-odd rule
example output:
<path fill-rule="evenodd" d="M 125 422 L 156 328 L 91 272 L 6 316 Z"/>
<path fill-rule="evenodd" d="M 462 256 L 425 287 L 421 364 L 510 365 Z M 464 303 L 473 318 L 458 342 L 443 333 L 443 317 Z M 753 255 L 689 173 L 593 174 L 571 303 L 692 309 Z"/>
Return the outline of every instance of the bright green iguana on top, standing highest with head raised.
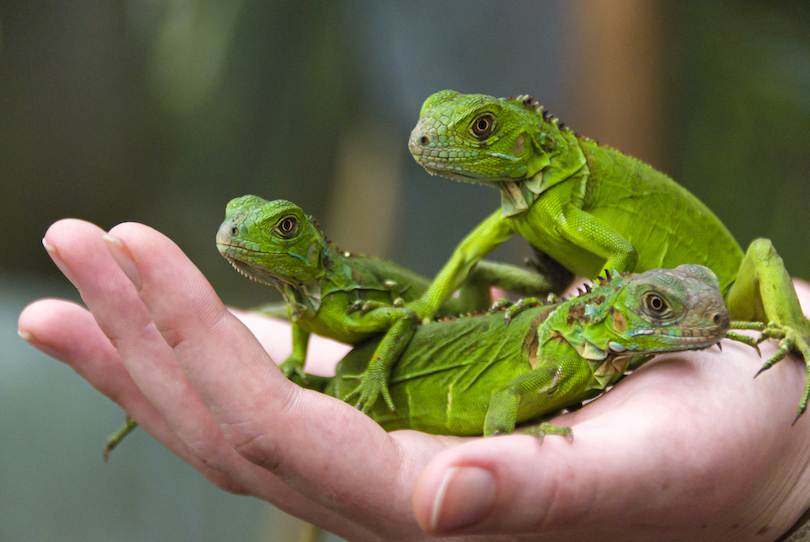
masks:
<path fill-rule="evenodd" d="M 407 306 L 421 317 L 464 282 L 470 266 L 514 234 L 565 280 L 565 268 L 595 277 L 684 263 L 717 274 L 731 317 L 761 322 L 760 340 L 780 348 L 760 372 L 796 350 L 808 380 L 796 420 L 810 398 L 810 324 L 782 259 L 767 239 L 743 251 L 697 198 L 647 164 L 578 137 L 531 97 L 500 99 L 445 90 L 422 106 L 411 133 L 413 157 L 430 174 L 496 186 L 501 210 L 456 248 L 425 295 Z"/>

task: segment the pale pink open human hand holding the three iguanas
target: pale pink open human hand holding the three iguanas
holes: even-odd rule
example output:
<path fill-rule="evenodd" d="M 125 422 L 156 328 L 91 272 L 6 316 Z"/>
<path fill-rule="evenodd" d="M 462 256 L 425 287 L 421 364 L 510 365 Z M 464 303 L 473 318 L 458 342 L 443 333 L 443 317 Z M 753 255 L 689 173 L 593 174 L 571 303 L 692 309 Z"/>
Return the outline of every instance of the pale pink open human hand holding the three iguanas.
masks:
<path fill-rule="evenodd" d="M 36 301 L 21 335 L 218 487 L 349 540 L 771 541 L 810 507 L 810 421 L 790 426 L 795 359 L 755 380 L 761 359 L 730 341 L 661 356 L 555 420 L 573 444 L 389 434 L 287 381 L 271 361 L 285 358 L 289 328 L 240 321 L 168 238 L 131 223 L 104 234 L 77 220 L 48 230 L 89 310 Z M 796 287 L 808 306 L 810 286 Z"/>

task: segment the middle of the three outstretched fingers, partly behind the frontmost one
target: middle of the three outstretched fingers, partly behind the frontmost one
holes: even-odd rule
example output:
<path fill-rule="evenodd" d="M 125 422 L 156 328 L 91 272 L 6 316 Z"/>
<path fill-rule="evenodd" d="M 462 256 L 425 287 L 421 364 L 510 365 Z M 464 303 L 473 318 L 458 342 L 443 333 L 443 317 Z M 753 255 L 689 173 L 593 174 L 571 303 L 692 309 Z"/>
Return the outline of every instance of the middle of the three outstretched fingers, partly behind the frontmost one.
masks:
<path fill-rule="evenodd" d="M 112 259 L 103 232 L 86 222 L 60 221 L 46 247 L 79 288 L 82 299 L 117 350 L 133 381 L 190 451 L 193 466 L 227 477 L 230 490 L 249 492 L 333 531 L 358 527 L 291 490 L 266 470 L 238 456 L 224 440 L 154 325 L 133 287 Z M 210 478 L 210 477 L 209 477 Z M 218 482 L 223 485 L 222 482 Z"/>

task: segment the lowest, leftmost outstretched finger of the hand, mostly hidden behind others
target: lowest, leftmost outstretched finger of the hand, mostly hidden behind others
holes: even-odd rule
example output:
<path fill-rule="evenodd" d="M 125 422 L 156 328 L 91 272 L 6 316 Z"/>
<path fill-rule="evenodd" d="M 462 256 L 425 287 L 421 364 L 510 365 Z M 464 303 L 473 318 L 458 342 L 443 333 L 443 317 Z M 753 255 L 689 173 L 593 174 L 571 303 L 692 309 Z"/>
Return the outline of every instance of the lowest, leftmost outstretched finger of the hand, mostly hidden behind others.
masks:
<path fill-rule="evenodd" d="M 218 487 L 244 493 L 244 489 L 228 477 L 201 463 L 177 437 L 135 385 L 118 352 L 87 310 L 69 301 L 40 300 L 23 310 L 18 327 L 20 335 L 32 346 L 69 365 L 91 386 L 123 408 L 158 442 L 192 464 Z"/>

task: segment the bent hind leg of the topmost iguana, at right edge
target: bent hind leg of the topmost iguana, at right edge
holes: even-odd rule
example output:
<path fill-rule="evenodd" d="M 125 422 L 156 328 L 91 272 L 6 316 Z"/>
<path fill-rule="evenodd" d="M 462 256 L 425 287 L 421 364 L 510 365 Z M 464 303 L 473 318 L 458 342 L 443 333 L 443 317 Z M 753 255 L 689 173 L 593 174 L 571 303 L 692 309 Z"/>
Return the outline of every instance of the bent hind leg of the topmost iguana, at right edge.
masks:
<path fill-rule="evenodd" d="M 804 358 L 808 379 L 793 421 L 796 423 L 810 400 L 810 324 L 785 264 L 770 240 L 755 239 L 748 247 L 737 279 L 726 294 L 726 305 L 732 319 L 763 322 L 767 324 L 765 338 L 779 339 L 779 351 L 760 372 L 783 359 L 789 350 Z"/>

